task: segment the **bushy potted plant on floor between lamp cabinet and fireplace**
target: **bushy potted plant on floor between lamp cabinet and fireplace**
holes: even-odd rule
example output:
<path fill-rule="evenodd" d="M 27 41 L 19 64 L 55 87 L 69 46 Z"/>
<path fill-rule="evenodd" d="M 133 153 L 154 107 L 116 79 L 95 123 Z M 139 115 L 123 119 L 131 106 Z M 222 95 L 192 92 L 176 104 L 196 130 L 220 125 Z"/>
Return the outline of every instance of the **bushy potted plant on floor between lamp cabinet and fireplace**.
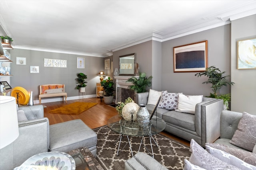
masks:
<path fill-rule="evenodd" d="M 105 104 L 112 104 L 114 98 L 114 83 L 113 80 L 108 77 L 106 80 L 100 82 L 102 88 L 104 89 L 104 102 Z"/>

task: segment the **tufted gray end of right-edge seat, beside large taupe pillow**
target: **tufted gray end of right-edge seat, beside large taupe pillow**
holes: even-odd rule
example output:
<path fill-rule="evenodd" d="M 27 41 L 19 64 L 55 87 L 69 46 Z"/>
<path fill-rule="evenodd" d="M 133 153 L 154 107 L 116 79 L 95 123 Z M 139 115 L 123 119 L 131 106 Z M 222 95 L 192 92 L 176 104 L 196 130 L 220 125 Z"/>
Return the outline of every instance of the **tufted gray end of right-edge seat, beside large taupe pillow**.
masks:
<path fill-rule="evenodd" d="M 223 110 L 220 115 L 220 138 L 232 139 L 240 119 L 242 118 L 242 113 Z"/>

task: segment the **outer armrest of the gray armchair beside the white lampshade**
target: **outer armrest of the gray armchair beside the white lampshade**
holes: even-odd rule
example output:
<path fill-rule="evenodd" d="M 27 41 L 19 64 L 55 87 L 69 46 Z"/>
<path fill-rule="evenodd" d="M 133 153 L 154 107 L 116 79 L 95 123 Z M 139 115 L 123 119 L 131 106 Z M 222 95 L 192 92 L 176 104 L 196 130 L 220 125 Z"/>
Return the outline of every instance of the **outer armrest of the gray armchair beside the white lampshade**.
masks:
<path fill-rule="evenodd" d="M 19 133 L 13 143 L 0 149 L 0 169 L 13 169 L 35 154 L 48 152 L 48 118 L 19 122 Z"/>

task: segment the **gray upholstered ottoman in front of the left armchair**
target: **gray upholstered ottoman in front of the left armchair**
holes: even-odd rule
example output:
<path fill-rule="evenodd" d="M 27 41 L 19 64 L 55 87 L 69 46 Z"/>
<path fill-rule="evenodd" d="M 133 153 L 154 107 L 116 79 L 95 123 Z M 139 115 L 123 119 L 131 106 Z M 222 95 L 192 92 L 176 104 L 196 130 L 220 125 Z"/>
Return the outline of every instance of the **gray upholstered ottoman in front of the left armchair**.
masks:
<path fill-rule="evenodd" d="M 96 157 L 97 134 L 80 119 L 50 125 L 49 141 L 51 152 L 86 147 Z"/>

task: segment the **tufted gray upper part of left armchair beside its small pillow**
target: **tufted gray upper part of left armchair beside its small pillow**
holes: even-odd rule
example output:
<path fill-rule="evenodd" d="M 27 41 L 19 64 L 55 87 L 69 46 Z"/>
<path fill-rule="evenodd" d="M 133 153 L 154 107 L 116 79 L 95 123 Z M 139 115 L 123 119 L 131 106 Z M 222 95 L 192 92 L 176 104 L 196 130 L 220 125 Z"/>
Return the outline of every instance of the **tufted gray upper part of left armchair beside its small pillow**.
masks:
<path fill-rule="evenodd" d="M 27 107 L 19 107 L 23 110 L 28 120 L 40 119 L 44 117 L 44 106 L 34 105 Z"/>

